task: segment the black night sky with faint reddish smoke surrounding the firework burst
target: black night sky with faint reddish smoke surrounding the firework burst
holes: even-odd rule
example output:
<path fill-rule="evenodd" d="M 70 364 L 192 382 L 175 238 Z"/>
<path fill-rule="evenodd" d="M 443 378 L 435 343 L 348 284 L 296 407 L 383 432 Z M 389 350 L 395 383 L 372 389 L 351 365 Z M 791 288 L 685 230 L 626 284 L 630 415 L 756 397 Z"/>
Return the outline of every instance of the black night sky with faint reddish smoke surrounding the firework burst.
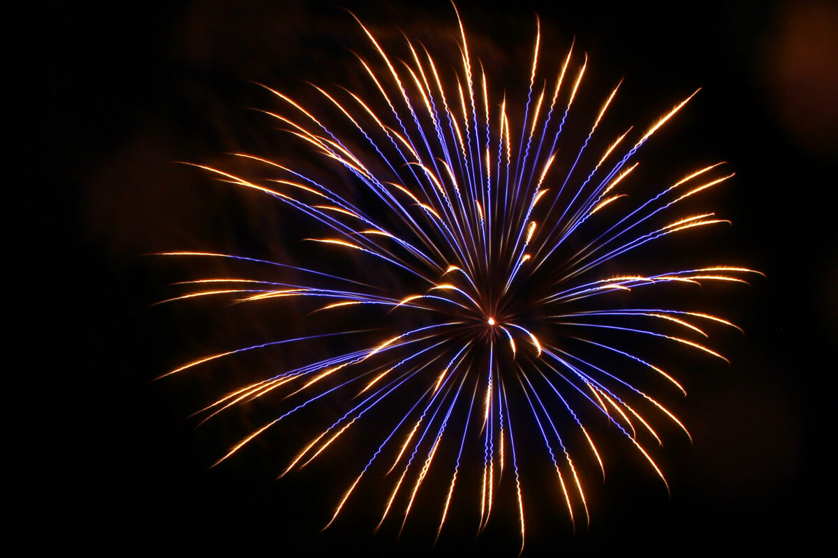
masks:
<path fill-rule="evenodd" d="M 186 417 L 215 390 L 194 377 L 151 380 L 230 340 L 208 319 L 223 313 L 150 308 L 169 282 L 189 278 L 142 256 L 235 249 L 242 241 L 232 238 L 258 234 L 235 216 L 256 211 L 250 198 L 173 161 L 276 149 L 249 110 L 272 101 L 250 81 L 291 92 L 303 79 L 352 83 L 346 49 L 364 38 L 339 6 L 382 32 L 453 29 L 447 3 L 418 4 L 87 3 L 16 19 L 13 65 L 25 77 L 10 109 L 28 125 L 12 164 L 25 172 L 9 179 L 23 202 L 8 204 L 11 253 L 21 256 L 8 274 L 25 278 L 8 291 L 13 553 L 429 553 L 430 541 L 374 538 L 367 524 L 319 533 L 333 494 L 318 491 L 314 474 L 273 482 L 282 462 L 270 446 L 209 468 L 230 437 L 214 425 L 195 431 Z M 623 107 L 640 110 L 639 123 L 702 87 L 661 132 L 661 147 L 675 151 L 657 152 L 687 166 L 730 162 L 737 177 L 716 207 L 734 227 L 719 248 L 767 275 L 730 298 L 727 315 L 747 332 L 726 341 L 732 366 L 686 379 L 691 395 L 677 408 L 695 443 L 675 442 L 665 461 L 671 499 L 618 459 L 595 489 L 591 527 L 573 536 L 560 517 L 559 535 L 528 540 L 526 555 L 815 548 L 835 488 L 825 455 L 838 317 L 838 11 L 817 2 L 459 8 L 490 75 L 490 65 L 530 64 L 538 13 L 556 64 L 575 36 L 604 87 L 626 76 Z M 255 215 L 257 231 L 279 226 Z M 518 543 L 501 530 L 473 544 L 515 555 Z"/>

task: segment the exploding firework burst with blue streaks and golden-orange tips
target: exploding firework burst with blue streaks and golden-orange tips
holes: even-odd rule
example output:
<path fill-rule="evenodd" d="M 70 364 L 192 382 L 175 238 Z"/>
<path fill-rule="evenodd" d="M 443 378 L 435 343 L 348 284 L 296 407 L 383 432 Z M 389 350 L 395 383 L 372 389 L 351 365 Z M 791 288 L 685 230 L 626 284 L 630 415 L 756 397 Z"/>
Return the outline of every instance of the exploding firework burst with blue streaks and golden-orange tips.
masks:
<path fill-rule="evenodd" d="M 695 94 L 644 129 L 609 136 L 600 124 L 618 84 L 587 115 L 586 130 L 569 135 L 562 131 L 587 67 L 572 47 L 544 70 L 536 31 L 529 86 L 512 102 L 492 93 L 462 23 L 453 68 L 409 39 L 405 60 L 396 59 L 359 24 L 371 45 L 370 57 L 358 56 L 371 93 L 315 85 L 313 110 L 271 90 L 280 109 L 266 112 L 331 174 L 250 154 L 236 156 L 259 179 L 201 166 L 302 215 L 313 263 L 167 254 L 261 269 L 189 281 L 194 290 L 171 300 L 225 297 L 272 311 L 293 304 L 309 315 L 296 325 L 300 335 L 204 356 L 165 376 L 272 346 L 323 354 L 283 359 L 281 371 L 204 408 L 206 420 L 276 402 L 274 416 L 219 463 L 291 417 L 342 402 L 280 475 L 348 452 L 342 441 L 361 431 L 367 453 L 335 493 L 328 525 L 365 484 L 384 484 L 376 530 L 387 520 L 403 528 L 420 494 L 437 514 L 437 537 L 457 500 L 473 504 L 483 530 L 505 490 L 522 545 L 526 460 L 550 468 L 543 490 L 572 524 L 588 521 L 583 479 L 605 471 L 594 426 L 611 428 L 664 479 L 653 458 L 660 425 L 686 429 L 644 390 L 666 383 L 684 392 L 659 361 L 670 362 L 676 348 L 684 358 L 725 360 L 703 339 L 736 326 L 661 301 L 673 289 L 744 283 L 754 273 L 714 263 L 670 269 L 649 252 L 727 223 L 685 212 L 732 176 L 721 164 L 686 172 L 652 196 L 633 195 L 640 148 Z"/>

